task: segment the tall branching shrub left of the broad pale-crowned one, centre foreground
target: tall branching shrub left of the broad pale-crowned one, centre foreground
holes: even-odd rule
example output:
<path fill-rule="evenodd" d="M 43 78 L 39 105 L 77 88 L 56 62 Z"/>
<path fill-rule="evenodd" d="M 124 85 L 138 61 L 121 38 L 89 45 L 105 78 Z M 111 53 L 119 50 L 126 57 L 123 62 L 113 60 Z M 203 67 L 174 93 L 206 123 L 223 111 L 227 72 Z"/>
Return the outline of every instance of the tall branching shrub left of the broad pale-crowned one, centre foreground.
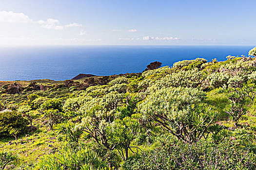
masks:
<path fill-rule="evenodd" d="M 84 115 L 81 126 L 85 135 L 104 146 L 107 152 L 118 150 L 122 159 L 126 160 L 128 151 L 135 153 L 132 148 L 137 148 L 130 145 L 139 129 L 138 120 L 132 118 L 138 100 L 137 97 L 124 98 L 123 94 L 110 92 L 84 103 L 81 107 Z M 109 167 L 113 166 L 111 159 Z"/>

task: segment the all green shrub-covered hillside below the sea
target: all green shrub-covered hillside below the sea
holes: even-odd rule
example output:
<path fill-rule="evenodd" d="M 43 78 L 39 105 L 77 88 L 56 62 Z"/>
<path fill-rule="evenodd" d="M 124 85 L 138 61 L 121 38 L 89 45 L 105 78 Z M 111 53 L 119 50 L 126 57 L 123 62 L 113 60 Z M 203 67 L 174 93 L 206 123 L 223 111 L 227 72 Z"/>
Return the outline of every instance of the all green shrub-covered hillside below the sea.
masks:
<path fill-rule="evenodd" d="M 255 170 L 256 58 L 160 66 L 0 82 L 0 170 Z"/>

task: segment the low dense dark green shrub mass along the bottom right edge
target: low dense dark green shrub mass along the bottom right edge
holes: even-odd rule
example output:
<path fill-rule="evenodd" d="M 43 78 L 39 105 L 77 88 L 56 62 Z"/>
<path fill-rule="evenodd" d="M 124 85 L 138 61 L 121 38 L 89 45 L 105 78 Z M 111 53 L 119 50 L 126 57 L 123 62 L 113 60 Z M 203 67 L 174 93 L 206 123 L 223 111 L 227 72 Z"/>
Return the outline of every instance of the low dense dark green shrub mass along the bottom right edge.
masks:
<path fill-rule="evenodd" d="M 250 148 L 214 146 L 206 142 L 161 143 L 123 163 L 123 170 L 255 170 L 256 153 Z"/>

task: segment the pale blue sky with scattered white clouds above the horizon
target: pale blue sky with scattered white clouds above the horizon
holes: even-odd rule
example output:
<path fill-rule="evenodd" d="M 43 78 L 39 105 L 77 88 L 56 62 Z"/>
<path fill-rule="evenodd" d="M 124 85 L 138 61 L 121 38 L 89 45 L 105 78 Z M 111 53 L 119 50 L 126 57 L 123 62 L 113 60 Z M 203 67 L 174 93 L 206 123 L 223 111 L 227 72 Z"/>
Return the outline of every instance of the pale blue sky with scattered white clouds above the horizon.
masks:
<path fill-rule="evenodd" d="M 0 46 L 256 45 L 256 0 L 0 0 Z"/>

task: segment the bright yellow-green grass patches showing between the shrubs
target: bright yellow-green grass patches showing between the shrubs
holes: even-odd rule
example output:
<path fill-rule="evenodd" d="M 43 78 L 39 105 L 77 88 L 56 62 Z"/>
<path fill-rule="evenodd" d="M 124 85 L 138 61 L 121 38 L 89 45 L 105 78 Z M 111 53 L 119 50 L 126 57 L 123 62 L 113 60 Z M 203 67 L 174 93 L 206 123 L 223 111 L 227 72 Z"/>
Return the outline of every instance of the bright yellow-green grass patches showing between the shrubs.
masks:
<path fill-rule="evenodd" d="M 233 127 L 232 122 L 228 120 L 227 115 L 224 112 L 225 105 L 228 100 L 225 94 L 218 93 L 218 90 L 212 90 L 207 93 L 206 102 L 217 107 L 217 110 L 222 113 L 222 117 L 219 119 L 219 123 L 227 127 Z M 249 110 L 256 108 L 256 103 L 252 104 Z M 252 132 L 256 131 L 256 112 L 249 112 L 247 115 L 239 121 L 241 128 L 247 128 Z M 21 136 L 18 141 L 15 139 L 4 139 L 0 141 L 0 148 L 2 150 L 11 151 L 19 155 L 19 160 L 14 164 L 20 166 L 26 163 L 34 163 L 40 158 L 40 156 L 52 153 L 55 148 L 59 148 L 64 145 L 64 141 L 57 140 L 57 130 L 50 131 L 42 125 L 41 119 L 36 119 L 34 124 L 39 124 L 39 130 L 32 133 L 28 137 Z M 254 134 L 256 135 L 256 134 Z M 11 144 L 9 144 L 11 142 Z M 133 143 L 135 146 L 136 144 Z M 146 150 L 147 146 L 140 146 L 140 149 Z M 130 154 L 132 154 L 130 152 Z"/>

